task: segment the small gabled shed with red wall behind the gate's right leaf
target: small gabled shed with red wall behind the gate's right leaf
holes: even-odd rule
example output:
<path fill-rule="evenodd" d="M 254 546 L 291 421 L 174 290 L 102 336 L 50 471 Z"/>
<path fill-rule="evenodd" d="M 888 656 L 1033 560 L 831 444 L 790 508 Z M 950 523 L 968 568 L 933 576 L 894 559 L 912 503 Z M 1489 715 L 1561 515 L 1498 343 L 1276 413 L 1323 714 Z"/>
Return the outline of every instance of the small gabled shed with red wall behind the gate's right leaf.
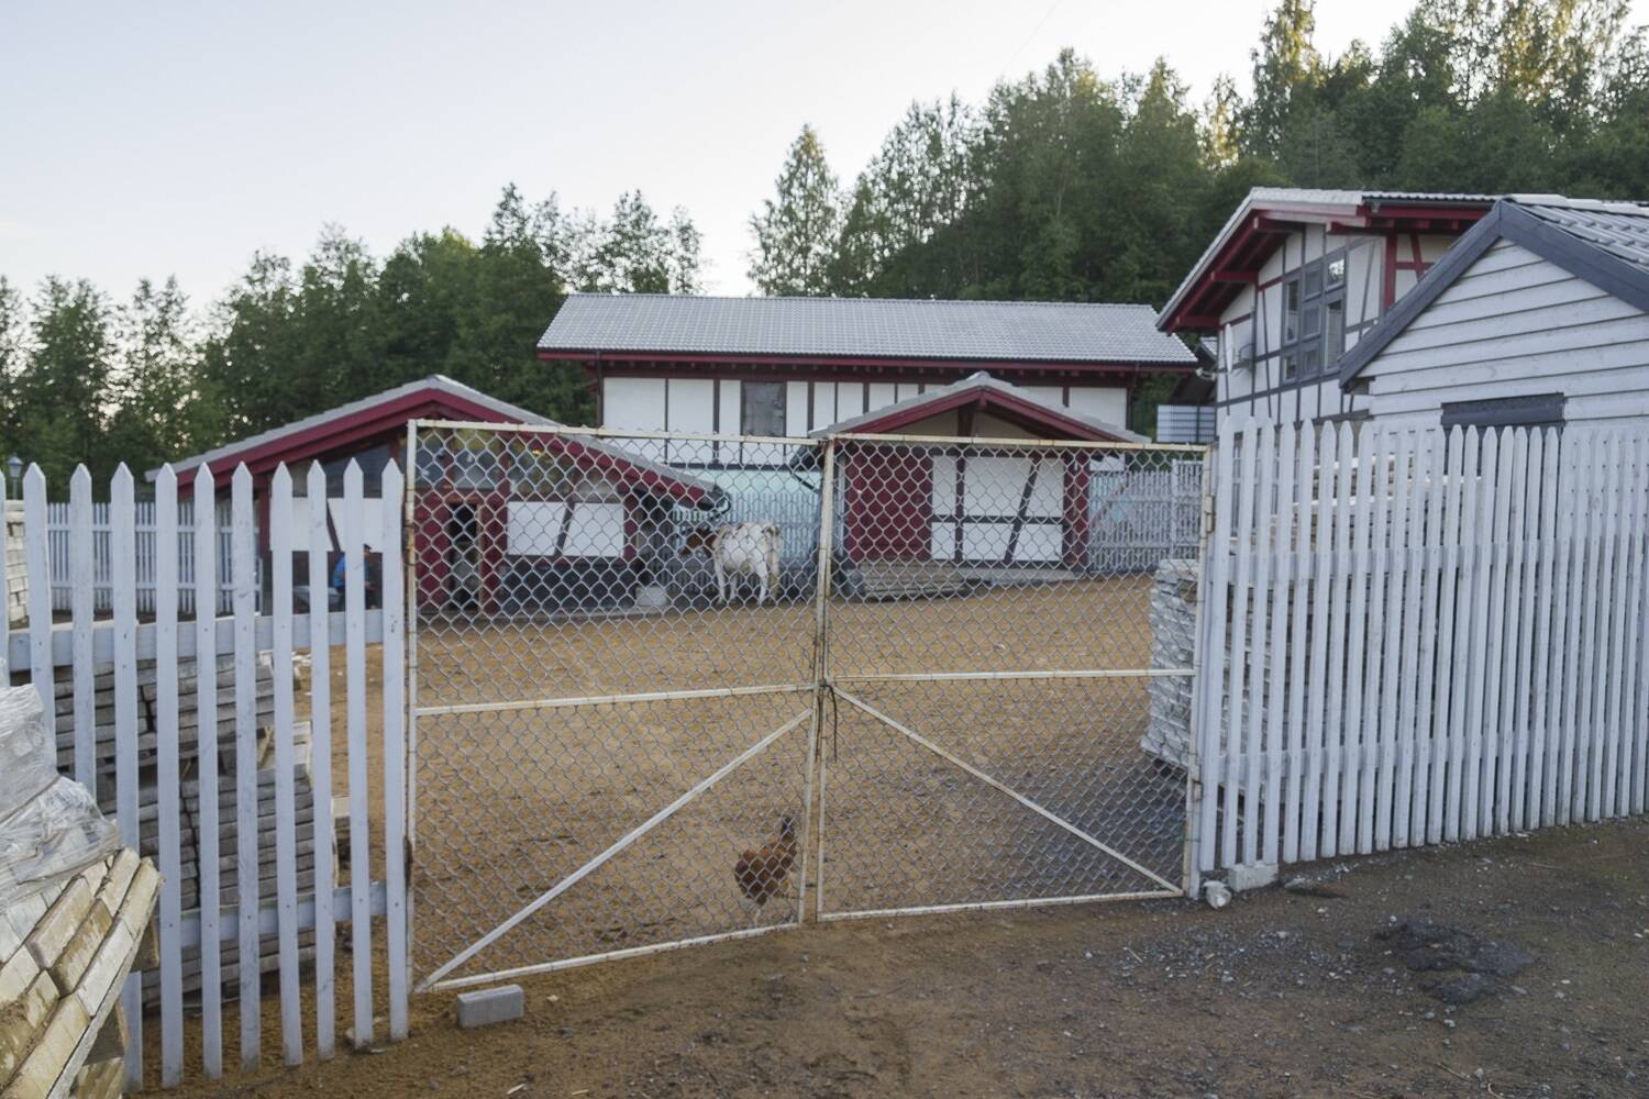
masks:
<path fill-rule="evenodd" d="M 857 565 L 1080 567 L 1093 514 L 1092 450 L 932 438 L 1148 442 L 989 374 L 829 427 L 839 450 L 843 552 Z"/>

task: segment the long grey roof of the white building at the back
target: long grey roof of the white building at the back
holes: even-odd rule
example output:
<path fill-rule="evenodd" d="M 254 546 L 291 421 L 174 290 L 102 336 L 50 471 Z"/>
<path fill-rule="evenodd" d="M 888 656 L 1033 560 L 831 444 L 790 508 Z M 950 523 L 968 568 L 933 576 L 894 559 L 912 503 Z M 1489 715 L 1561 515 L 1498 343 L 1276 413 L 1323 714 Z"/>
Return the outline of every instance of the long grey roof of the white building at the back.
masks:
<path fill-rule="evenodd" d="M 539 351 L 1191 366 L 1148 305 L 576 293 Z"/>

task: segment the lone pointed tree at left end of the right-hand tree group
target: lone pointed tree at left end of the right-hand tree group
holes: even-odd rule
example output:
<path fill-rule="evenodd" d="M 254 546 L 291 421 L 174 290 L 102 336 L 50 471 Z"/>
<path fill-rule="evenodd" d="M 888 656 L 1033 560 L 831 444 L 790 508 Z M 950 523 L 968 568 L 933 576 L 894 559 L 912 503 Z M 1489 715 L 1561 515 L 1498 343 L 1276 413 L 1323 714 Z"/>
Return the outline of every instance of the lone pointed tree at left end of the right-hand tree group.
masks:
<path fill-rule="evenodd" d="M 841 234 L 841 196 L 813 127 L 801 127 L 773 188 L 777 196 L 750 217 L 750 280 L 762 293 L 826 293 Z"/>

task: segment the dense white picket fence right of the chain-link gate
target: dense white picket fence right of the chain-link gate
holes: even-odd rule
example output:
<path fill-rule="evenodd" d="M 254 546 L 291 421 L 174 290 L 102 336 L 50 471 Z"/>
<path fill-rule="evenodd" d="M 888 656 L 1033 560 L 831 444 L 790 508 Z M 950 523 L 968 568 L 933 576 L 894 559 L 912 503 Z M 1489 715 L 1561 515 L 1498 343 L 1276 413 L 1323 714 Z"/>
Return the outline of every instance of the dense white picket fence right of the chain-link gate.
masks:
<path fill-rule="evenodd" d="M 1649 435 L 1227 428 L 1199 873 L 1644 811 Z"/>

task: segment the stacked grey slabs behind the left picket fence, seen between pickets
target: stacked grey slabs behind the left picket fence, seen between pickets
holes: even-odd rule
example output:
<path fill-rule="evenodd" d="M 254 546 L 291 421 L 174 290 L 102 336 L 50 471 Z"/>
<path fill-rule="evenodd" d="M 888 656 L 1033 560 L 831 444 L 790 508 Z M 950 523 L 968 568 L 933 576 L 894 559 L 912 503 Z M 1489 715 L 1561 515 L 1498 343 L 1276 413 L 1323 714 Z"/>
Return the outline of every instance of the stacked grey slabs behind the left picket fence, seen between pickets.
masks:
<path fill-rule="evenodd" d="M 234 657 L 219 656 L 216 705 L 218 743 L 218 901 L 223 908 L 241 903 L 239 890 L 239 814 L 236 811 L 236 687 Z M 269 654 L 257 659 L 252 709 L 257 722 L 257 896 L 261 905 L 274 901 L 275 878 L 275 769 L 274 769 L 274 667 Z M 63 676 L 54 684 L 58 769 L 74 773 L 74 684 Z M 200 677 L 193 657 L 178 661 L 178 840 L 180 890 L 185 914 L 200 908 L 201 791 L 200 768 Z M 137 774 L 139 774 L 139 852 L 160 858 L 160 793 L 158 793 L 158 699 L 157 672 L 152 661 L 137 669 Z M 115 812 L 115 737 L 114 737 L 114 669 L 101 666 L 92 677 L 92 727 L 96 758 L 96 794 L 104 814 Z M 297 888 L 300 895 L 315 890 L 315 794 L 310 786 L 310 725 L 294 727 L 294 804 L 297 822 Z M 330 802 L 323 799 L 323 811 Z M 336 863 L 335 863 L 336 865 Z M 224 926 L 233 921 L 224 919 Z M 239 990 L 239 939 L 221 942 L 221 975 L 226 997 Z M 313 959 L 313 936 L 302 933 L 300 959 Z M 279 941 L 265 936 L 259 946 L 259 970 L 279 967 Z M 198 994 L 201 987 L 200 949 L 183 951 L 183 990 Z M 143 1000 L 160 1002 L 160 974 L 143 974 Z"/>

